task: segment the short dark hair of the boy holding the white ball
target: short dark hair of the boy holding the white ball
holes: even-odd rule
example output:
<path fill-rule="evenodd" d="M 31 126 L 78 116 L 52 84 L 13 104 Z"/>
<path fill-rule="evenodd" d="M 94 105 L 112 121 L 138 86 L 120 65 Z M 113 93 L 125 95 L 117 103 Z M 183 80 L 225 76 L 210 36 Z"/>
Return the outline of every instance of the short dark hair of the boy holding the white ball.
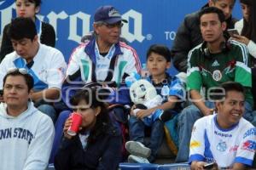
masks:
<path fill-rule="evenodd" d="M 148 60 L 149 55 L 152 53 L 160 54 L 167 60 L 167 62 L 171 62 L 171 51 L 165 45 L 160 45 L 160 44 L 151 45 L 148 48 L 147 60 Z"/>

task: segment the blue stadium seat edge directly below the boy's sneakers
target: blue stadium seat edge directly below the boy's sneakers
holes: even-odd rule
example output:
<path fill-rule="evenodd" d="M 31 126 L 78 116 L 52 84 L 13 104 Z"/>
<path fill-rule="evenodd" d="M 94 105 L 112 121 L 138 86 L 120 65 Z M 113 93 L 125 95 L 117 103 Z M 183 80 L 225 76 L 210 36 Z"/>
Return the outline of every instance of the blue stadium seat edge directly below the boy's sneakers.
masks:
<path fill-rule="evenodd" d="M 158 165 L 152 163 L 119 163 L 120 170 L 157 170 Z"/>

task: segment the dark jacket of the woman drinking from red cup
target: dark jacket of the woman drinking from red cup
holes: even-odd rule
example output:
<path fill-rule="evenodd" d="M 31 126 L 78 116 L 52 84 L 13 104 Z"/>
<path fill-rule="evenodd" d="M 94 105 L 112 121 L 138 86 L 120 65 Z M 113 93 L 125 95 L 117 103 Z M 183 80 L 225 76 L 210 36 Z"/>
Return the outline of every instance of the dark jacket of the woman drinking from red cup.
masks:
<path fill-rule="evenodd" d="M 122 158 L 122 137 L 113 126 L 103 128 L 93 141 L 83 149 L 79 136 L 63 138 L 55 156 L 56 170 L 115 170 Z"/>

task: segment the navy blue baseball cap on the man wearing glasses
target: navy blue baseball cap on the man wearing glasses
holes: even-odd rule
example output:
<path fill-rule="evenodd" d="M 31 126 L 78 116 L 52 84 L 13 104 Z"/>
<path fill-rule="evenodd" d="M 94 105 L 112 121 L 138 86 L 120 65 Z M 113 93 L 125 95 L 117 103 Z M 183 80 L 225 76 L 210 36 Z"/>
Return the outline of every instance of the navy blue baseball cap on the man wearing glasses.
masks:
<path fill-rule="evenodd" d="M 94 14 L 94 21 L 102 21 L 108 24 L 114 24 L 119 21 L 127 23 L 127 20 L 122 19 L 122 16 L 121 14 L 119 14 L 119 11 L 110 5 L 97 8 L 96 13 Z"/>

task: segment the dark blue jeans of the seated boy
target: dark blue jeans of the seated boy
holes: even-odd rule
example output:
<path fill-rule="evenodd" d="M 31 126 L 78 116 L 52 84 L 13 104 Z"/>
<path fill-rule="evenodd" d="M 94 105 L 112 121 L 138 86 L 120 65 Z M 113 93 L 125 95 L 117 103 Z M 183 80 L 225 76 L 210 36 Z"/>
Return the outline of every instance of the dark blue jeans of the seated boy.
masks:
<path fill-rule="evenodd" d="M 145 127 L 146 125 L 141 119 L 137 119 L 136 116 L 131 116 L 129 119 L 130 139 L 145 144 Z M 151 155 L 148 157 L 148 161 L 154 161 L 157 151 L 162 144 L 163 136 L 164 122 L 161 122 L 158 119 L 151 126 L 150 144 L 145 144 L 151 150 Z"/>

